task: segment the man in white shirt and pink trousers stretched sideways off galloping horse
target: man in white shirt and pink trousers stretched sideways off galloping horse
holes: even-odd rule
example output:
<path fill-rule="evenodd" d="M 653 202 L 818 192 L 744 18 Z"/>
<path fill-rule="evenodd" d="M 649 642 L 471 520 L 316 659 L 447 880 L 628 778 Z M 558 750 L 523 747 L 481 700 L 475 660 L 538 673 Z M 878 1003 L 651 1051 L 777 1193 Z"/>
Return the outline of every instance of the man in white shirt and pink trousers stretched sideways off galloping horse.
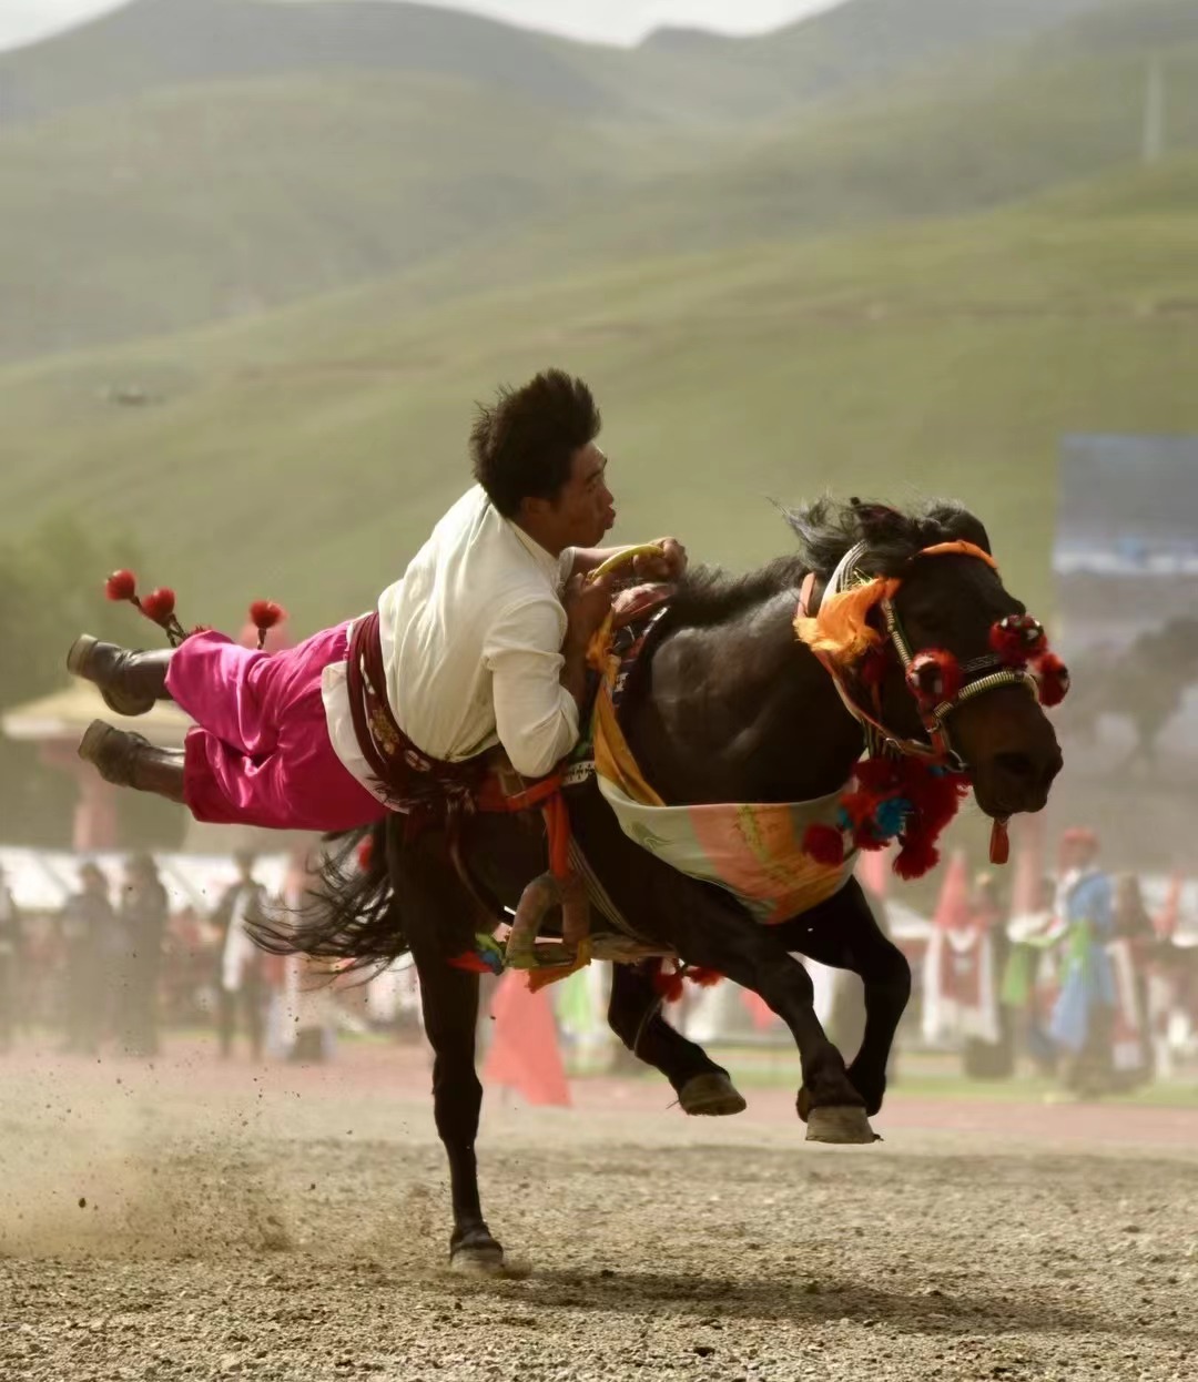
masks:
<path fill-rule="evenodd" d="M 216 633 L 174 652 L 76 641 L 68 666 L 119 713 L 170 697 L 196 720 L 164 750 L 97 720 L 79 746 L 109 782 L 200 821 L 343 831 L 468 791 L 496 742 L 525 777 L 575 745 L 586 647 L 611 604 L 583 578 L 615 521 L 600 413 L 561 370 L 500 391 L 470 437 L 470 489 L 374 612 L 265 656 Z M 678 576 L 673 539 L 638 575 Z"/>

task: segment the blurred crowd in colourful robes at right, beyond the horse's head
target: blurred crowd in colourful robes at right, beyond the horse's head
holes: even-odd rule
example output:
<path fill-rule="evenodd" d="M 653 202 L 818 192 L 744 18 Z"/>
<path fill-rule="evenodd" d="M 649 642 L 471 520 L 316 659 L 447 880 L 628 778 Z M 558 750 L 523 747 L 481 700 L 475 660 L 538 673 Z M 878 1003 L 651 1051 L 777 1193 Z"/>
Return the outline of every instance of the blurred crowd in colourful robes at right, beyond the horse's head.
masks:
<path fill-rule="evenodd" d="M 1007 1077 L 1023 1057 L 1082 1096 L 1198 1056 L 1198 930 L 1181 879 L 1150 908 L 1141 879 L 1111 873 L 1097 836 L 1072 829 L 1038 891 L 1011 915 L 982 873 L 942 900 L 919 974 L 924 1039 L 960 1045 L 967 1075 Z"/>

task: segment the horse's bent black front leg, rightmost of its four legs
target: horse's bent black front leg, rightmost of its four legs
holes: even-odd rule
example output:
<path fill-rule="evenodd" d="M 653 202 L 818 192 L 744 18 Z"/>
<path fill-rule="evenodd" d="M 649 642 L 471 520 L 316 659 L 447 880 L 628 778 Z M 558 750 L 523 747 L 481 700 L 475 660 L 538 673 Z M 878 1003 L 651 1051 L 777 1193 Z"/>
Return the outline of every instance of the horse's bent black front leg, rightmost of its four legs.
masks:
<path fill-rule="evenodd" d="M 911 998 L 906 956 L 883 934 L 855 879 L 826 902 L 778 927 L 778 934 L 788 949 L 861 976 L 865 1035 L 848 1078 L 872 1117 L 882 1108 L 894 1034 Z"/>

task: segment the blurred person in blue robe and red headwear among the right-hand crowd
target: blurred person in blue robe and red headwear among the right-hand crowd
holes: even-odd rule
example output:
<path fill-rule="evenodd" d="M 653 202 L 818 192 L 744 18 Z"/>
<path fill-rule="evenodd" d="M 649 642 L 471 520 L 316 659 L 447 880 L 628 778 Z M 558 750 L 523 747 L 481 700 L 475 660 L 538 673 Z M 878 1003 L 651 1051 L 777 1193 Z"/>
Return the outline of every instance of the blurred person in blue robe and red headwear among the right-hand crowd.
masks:
<path fill-rule="evenodd" d="M 1057 916 L 1064 923 L 1061 991 L 1049 1035 L 1061 1052 L 1065 1086 L 1093 1096 L 1111 1088 L 1115 970 L 1108 951 L 1115 931 L 1110 875 L 1099 864 L 1093 831 L 1065 831 Z"/>

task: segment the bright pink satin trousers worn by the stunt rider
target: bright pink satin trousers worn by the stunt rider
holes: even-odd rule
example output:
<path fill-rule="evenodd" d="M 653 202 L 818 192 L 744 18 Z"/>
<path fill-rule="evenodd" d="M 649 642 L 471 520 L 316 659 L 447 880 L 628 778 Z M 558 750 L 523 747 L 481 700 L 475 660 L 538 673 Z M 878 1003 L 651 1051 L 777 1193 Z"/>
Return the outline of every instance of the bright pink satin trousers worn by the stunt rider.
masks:
<path fill-rule="evenodd" d="M 345 661 L 348 625 L 285 652 L 254 652 L 222 633 L 188 638 L 166 688 L 195 721 L 184 797 L 198 821 L 279 831 L 350 831 L 387 814 L 333 752 L 321 695 Z"/>

